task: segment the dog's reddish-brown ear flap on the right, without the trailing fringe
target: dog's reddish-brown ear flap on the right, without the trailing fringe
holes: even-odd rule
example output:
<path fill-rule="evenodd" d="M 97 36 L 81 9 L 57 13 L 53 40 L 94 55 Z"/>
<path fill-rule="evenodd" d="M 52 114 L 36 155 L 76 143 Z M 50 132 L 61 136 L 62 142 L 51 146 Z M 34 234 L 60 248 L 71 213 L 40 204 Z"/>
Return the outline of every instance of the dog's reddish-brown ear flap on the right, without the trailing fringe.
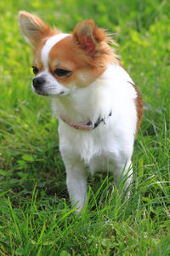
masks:
<path fill-rule="evenodd" d="M 95 26 L 94 20 L 84 20 L 75 27 L 73 37 L 94 58 L 99 52 L 99 43 L 105 40 L 105 30 Z"/>

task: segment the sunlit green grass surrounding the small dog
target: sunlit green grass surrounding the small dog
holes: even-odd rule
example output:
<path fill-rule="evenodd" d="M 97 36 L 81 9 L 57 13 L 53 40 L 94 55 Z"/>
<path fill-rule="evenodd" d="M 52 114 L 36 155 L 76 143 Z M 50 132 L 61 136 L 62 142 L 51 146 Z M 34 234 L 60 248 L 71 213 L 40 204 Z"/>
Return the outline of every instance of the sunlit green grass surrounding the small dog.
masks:
<path fill-rule="evenodd" d="M 70 208 L 58 122 L 31 92 L 31 47 L 18 11 L 71 32 L 92 18 L 115 33 L 122 64 L 144 99 L 133 153 L 133 193 L 110 175 L 88 178 L 82 218 Z M 0 255 L 170 255 L 169 0 L 0 2 Z"/>

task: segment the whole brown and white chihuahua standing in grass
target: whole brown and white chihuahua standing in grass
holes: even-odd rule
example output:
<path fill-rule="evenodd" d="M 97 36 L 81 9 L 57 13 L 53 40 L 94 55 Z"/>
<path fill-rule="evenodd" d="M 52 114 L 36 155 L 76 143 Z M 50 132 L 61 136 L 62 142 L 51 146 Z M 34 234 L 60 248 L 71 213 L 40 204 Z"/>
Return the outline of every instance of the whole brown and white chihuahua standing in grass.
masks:
<path fill-rule="evenodd" d="M 115 183 L 126 177 L 124 190 L 131 183 L 142 98 L 111 47 L 115 43 L 94 20 L 66 34 L 26 11 L 19 16 L 20 30 L 33 47 L 31 87 L 51 96 L 67 188 L 80 212 L 87 200 L 87 166 L 92 174 L 112 172 Z"/>

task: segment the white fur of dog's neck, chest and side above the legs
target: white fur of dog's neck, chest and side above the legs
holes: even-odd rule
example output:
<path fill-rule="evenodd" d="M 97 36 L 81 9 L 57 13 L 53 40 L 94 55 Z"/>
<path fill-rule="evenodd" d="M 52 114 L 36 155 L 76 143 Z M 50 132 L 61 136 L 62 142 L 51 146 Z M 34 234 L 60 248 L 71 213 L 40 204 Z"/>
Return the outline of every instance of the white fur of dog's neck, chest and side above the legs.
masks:
<path fill-rule="evenodd" d="M 71 152 L 79 154 L 82 160 L 89 163 L 102 151 L 113 151 L 113 148 L 126 150 L 129 147 L 125 147 L 126 141 L 132 147 L 137 122 L 136 91 L 129 82 L 133 81 L 122 67 L 111 65 L 88 88 L 77 89 L 73 95 L 67 96 L 64 106 L 54 98 L 54 113 L 68 116 L 75 122 L 95 122 L 99 116 L 105 118 L 105 124 L 101 123 L 94 131 L 77 131 L 60 120 L 61 150 L 66 148 L 67 151 L 70 144 Z"/>

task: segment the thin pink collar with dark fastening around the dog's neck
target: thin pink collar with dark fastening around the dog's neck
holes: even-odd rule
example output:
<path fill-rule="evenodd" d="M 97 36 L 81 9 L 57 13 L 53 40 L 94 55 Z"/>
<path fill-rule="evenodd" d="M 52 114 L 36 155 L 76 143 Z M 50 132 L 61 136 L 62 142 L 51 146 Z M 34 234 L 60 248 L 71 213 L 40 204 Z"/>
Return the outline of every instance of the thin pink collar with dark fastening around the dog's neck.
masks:
<path fill-rule="evenodd" d="M 109 116 L 111 116 L 112 112 L 109 113 Z M 66 119 L 65 117 L 60 117 L 60 119 L 65 122 L 67 125 L 71 126 L 72 128 L 75 128 L 77 130 L 82 130 L 82 131 L 93 131 L 95 128 L 98 127 L 98 125 L 101 123 L 101 122 L 104 122 L 105 124 L 105 119 L 102 119 L 102 118 L 98 118 L 97 121 L 94 123 L 89 121 L 87 123 L 77 123 L 77 124 L 73 124 L 71 122 L 70 119 Z"/>

